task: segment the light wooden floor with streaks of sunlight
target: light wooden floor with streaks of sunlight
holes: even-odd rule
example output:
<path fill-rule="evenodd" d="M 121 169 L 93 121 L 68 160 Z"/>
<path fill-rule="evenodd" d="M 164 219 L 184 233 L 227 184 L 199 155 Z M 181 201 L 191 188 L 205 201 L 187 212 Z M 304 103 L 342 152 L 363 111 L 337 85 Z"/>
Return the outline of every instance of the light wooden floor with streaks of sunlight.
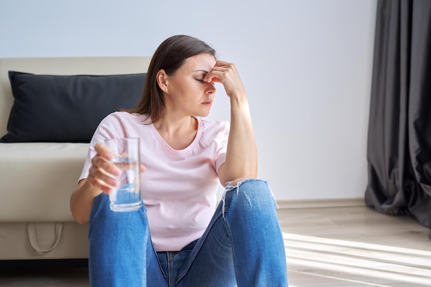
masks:
<path fill-rule="evenodd" d="M 430 230 L 412 217 L 382 215 L 366 206 L 303 206 L 277 214 L 290 287 L 431 286 Z M 0 286 L 89 286 L 86 268 L 0 273 Z"/>

